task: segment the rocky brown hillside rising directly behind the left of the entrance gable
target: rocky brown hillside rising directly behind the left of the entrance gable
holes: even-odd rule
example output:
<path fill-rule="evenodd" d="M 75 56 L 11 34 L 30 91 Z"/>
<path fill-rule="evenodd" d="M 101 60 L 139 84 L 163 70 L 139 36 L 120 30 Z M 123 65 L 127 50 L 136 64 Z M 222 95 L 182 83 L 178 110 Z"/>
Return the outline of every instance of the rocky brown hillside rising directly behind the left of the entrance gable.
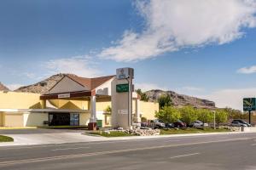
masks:
<path fill-rule="evenodd" d="M 42 82 L 38 82 L 29 86 L 20 87 L 15 92 L 28 92 L 34 94 L 45 94 L 50 88 L 55 86 L 56 82 L 59 82 L 65 74 L 57 74 L 45 79 Z"/>

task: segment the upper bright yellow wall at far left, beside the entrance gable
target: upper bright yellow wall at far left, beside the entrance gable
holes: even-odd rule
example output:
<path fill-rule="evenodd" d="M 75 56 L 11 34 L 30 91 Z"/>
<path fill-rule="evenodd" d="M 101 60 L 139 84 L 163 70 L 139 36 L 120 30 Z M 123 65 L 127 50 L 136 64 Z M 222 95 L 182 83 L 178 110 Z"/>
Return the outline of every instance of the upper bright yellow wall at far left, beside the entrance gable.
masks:
<path fill-rule="evenodd" d="M 0 109 L 41 109 L 40 94 L 0 92 Z"/>

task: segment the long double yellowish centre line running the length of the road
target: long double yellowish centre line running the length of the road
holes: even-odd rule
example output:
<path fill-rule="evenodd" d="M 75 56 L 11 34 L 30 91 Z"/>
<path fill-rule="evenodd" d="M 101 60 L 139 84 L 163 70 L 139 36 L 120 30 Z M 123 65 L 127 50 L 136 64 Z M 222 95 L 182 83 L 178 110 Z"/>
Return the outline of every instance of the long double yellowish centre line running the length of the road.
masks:
<path fill-rule="evenodd" d="M 102 156 L 107 154 L 118 154 L 118 153 L 129 152 L 129 151 L 154 150 L 154 149 L 171 148 L 171 147 L 178 147 L 178 146 L 189 146 L 194 144 L 214 144 L 219 142 L 243 141 L 247 139 L 248 138 L 217 140 L 217 141 L 208 141 L 208 142 L 195 142 L 195 143 L 189 143 L 189 144 L 168 144 L 168 145 L 161 145 L 161 146 L 126 149 L 126 150 L 109 150 L 109 151 L 90 152 L 90 153 L 84 153 L 84 154 L 74 154 L 74 155 L 65 155 L 65 156 L 49 156 L 49 157 L 40 157 L 40 158 L 15 160 L 15 161 L 0 161 L 0 167 L 15 165 L 15 164 L 32 163 L 32 162 L 38 162 L 38 161 L 56 161 L 56 160 L 71 159 L 71 158 L 78 158 L 78 157 L 85 157 L 85 156 Z"/>

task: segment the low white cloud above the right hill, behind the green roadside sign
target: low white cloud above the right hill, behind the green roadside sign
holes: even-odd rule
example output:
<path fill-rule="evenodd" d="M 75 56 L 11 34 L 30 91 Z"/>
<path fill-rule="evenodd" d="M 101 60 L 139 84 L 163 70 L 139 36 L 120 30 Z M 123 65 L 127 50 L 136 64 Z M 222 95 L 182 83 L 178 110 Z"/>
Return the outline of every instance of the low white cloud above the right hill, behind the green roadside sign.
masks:
<path fill-rule="evenodd" d="M 202 99 L 210 99 L 217 107 L 231 107 L 242 111 L 242 99 L 256 97 L 256 88 L 230 88 L 221 89 L 212 94 L 198 96 Z"/>

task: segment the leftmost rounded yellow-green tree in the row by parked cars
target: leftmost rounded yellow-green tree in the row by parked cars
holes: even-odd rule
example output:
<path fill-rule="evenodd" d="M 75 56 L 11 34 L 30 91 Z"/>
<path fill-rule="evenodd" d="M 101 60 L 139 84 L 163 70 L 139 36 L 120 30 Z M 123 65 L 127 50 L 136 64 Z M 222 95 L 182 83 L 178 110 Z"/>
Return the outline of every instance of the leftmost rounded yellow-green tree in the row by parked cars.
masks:
<path fill-rule="evenodd" d="M 172 106 L 165 106 L 159 112 L 155 112 L 155 117 L 163 122 L 177 122 L 181 118 L 180 111 Z"/>

